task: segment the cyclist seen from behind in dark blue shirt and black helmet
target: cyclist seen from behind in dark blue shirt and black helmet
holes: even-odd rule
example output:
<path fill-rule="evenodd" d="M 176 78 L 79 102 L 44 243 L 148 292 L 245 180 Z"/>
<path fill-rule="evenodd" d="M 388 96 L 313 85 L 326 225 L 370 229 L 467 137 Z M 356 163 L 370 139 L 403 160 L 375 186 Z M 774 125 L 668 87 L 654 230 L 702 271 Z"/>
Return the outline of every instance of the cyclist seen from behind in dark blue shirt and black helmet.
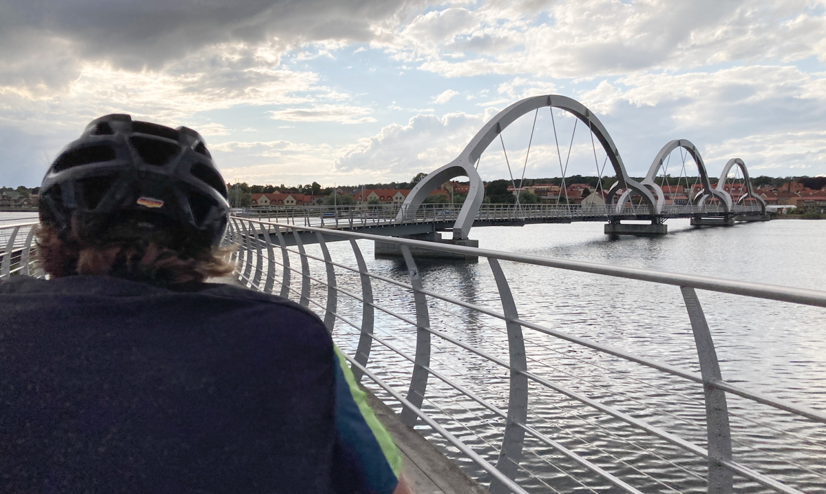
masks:
<path fill-rule="evenodd" d="M 310 311 L 244 287 L 201 135 L 103 116 L 40 187 L 49 280 L 0 284 L 0 492 L 407 491 Z"/>

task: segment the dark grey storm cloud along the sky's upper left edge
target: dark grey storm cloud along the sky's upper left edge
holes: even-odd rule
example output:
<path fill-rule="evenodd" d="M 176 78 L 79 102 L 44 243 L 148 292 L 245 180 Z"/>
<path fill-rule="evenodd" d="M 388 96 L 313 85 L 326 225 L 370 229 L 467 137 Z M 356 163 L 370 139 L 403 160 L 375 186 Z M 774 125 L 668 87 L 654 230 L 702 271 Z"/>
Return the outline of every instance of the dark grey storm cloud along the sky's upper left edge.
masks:
<path fill-rule="evenodd" d="M 0 6 L 0 84 L 54 86 L 80 60 L 157 69 L 207 45 L 373 37 L 406 0 L 50 0 Z"/>

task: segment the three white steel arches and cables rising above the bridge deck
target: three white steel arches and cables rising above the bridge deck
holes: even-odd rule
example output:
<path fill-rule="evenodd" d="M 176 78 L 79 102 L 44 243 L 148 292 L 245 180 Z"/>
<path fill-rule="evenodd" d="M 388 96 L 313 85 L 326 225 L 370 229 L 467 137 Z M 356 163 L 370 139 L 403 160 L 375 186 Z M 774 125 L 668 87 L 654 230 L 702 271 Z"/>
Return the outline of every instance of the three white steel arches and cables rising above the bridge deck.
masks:
<path fill-rule="evenodd" d="M 485 151 L 497 137 L 501 139 L 502 132 L 519 119 L 520 116 L 525 116 L 530 112 L 537 112 L 538 114 L 539 109 L 544 107 L 548 107 L 552 111 L 553 108 L 558 108 L 576 117 L 578 121 L 581 121 L 587 130 L 591 132 L 591 145 L 594 146 L 595 158 L 596 143 L 598 142 L 601 150 L 605 153 L 606 160 L 610 162 L 611 167 L 614 169 L 616 182 L 606 191 L 605 203 L 607 207 L 604 208 L 604 211 L 600 211 L 600 215 L 586 214 L 584 215 L 586 217 L 579 215 L 583 221 L 605 221 L 605 219 L 607 219 L 607 221 L 610 221 L 610 224 L 618 225 L 619 221 L 623 219 L 650 219 L 654 225 L 658 225 L 662 224 L 662 221 L 668 217 L 690 215 L 695 218 L 695 223 L 698 225 L 704 224 L 703 219 L 709 216 L 720 218 L 720 222 L 723 224 L 733 224 L 733 216 L 737 214 L 748 215 L 751 219 L 766 219 L 766 202 L 754 192 L 751 180 L 748 178 L 748 170 L 742 159 L 730 159 L 729 163 L 724 166 L 716 187 L 713 187 L 710 183 L 705 163 L 696 146 L 689 140 L 672 140 L 657 153 L 645 178 L 643 178 L 641 182 L 638 182 L 629 177 L 629 173 L 625 169 L 625 165 L 619 155 L 619 150 L 617 150 L 614 140 L 611 139 L 605 126 L 603 126 L 600 119 L 591 112 L 591 110 L 570 97 L 545 95 L 528 97 L 520 102 L 515 102 L 491 118 L 491 120 L 473 136 L 472 140 L 465 146 L 458 157 L 453 159 L 449 164 L 445 164 L 439 169 L 434 170 L 415 185 L 415 188 L 413 188 L 401 206 L 401 210 L 396 214 L 396 220 L 402 221 L 416 218 L 424 205 L 425 199 L 431 192 L 434 192 L 436 188 L 439 188 L 442 183 L 453 178 L 467 177 L 470 183 L 468 196 L 458 211 L 451 230 L 453 231 L 453 240 L 468 239 L 468 233 L 471 227 L 474 223 L 478 223 L 480 219 L 483 219 L 480 218 L 480 213 L 483 211 L 484 184 L 477 171 L 482 152 Z M 535 122 L 536 119 L 534 116 L 534 127 Z M 574 131 L 576 131 L 576 127 L 574 127 Z M 556 125 L 554 124 L 554 133 L 555 132 Z M 533 140 L 533 131 L 531 131 L 531 140 Z M 502 147 L 504 150 L 504 142 L 502 143 Z M 685 208 L 669 207 L 669 205 L 666 204 L 666 193 L 663 192 L 662 184 L 656 182 L 657 173 L 663 168 L 663 164 L 667 166 L 667 159 L 670 159 L 674 150 L 684 150 L 694 159 L 697 166 L 700 189 L 695 193 L 694 197 L 691 197 L 691 206 L 694 207 L 691 211 Z M 530 145 L 527 154 L 529 154 L 529 151 Z M 563 169 L 564 184 L 567 160 L 565 167 L 562 167 L 562 153 L 559 150 L 558 140 L 557 151 L 561 169 Z M 570 158 L 570 151 L 571 149 L 569 148 L 568 158 Z M 525 159 L 526 165 L 527 154 Z M 685 161 L 683 164 L 685 164 Z M 728 178 L 729 171 L 735 165 L 738 167 L 738 171 L 743 173 L 744 187 L 747 189 L 747 192 L 740 195 L 736 202 L 733 201 L 731 194 L 725 190 L 726 178 Z M 510 170 L 510 164 L 508 164 L 508 167 Z M 603 169 L 605 169 L 605 166 L 603 166 Z M 597 170 L 599 171 L 599 164 L 597 164 Z M 599 176 L 602 176 L 601 173 Z M 747 202 L 751 202 L 752 204 L 747 205 Z M 642 211 L 638 208 L 634 211 L 633 215 L 629 215 L 629 207 L 633 204 L 643 206 Z M 514 214 L 520 214 L 519 204 L 515 206 Z M 548 215 L 547 217 L 548 219 L 553 219 L 552 216 L 553 215 Z M 634 218 L 630 216 L 634 216 Z M 530 217 L 531 219 L 539 220 L 539 215 Z M 622 228 L 612 227 L 606 228 L 606 232 L 624 233 L 626 231 Z M 632 233 L 632 231 L 628 232 Z M 657 231 L 652 231 L 652 233 L 657 233 Z M 664 230 L 662 233 L 664 233 Z"/>

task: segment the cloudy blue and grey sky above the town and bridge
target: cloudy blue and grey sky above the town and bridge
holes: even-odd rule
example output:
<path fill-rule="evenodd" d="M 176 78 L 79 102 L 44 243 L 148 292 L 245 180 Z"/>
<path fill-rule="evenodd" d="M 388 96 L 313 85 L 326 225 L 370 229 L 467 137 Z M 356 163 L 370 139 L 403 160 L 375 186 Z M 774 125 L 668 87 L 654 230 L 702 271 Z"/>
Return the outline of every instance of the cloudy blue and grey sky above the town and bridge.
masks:
<path fill-rule="evenodd" d="M 826 2 L 0 2 L 5 186 L 39 185 L 108 113 L 201 132 L 232 183 L 408 181 L 544 94 L 594 112 L 631 176 L 673 139 L 712 177 L 731 158 L 752 178 L 823 175 Z M 479 173 L 613 175 L 574 123 L 523 116 Z M 668 159 L 663 173 L 696 175 Z"/>

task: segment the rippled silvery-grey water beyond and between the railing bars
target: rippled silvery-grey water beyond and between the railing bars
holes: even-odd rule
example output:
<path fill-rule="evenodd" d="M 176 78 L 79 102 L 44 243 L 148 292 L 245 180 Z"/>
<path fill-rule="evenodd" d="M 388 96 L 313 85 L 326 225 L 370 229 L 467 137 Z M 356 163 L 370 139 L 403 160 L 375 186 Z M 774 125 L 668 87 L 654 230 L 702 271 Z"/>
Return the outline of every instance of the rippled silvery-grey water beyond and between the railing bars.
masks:
<path fill-rule="evenodd" d="M 471 237 L 482 248 L 521 254 L 819 290 L 826 287 L 826 256 L 822 254 L 826 221 L 783 220 L 698 230 L 688 221 L 672 220 L 666 236 L 613 240 L 602 233 L 602 227 L 601 223 L 487 227 L 472 230 Z M 373 259 L 371 242 L 359 241 L 358 245 L 371 272 L 409 283 L 400 260 Z M 317 246 L 308 246 L 308 252 L 320 257 Z M 347 242 L 330 244 L 330 253 L 342 264 L 355 265 Z M 292 267 L 300 269 L 300 265 L 297 256 L 292 256 Z M 418 267 L 426 290 L 501 312 L 487 260 L 420 261 Z M 678 287 L 506 262 L 502 268 L 522 319 L 699 373 Z M 315 261 L 311 261 L 311 273 L 319 280 L 325 278 L 323 266 Z M 341 268 L 336 268 L 336 274 L 339 288 L 361 294 L 357 275 Z M 299 287 L 300 274 L 292 273 L 292 279 Z M 406 289 L 374 280 L 373 292 L 377 305 L 415 321 Z M 313 283 L 311 294 L 321 303 L 311 308 L 323 316 L 326 288 Z M 826 309 L 703 291 L 698 296 L 724 379 L 826 410 Z M 291 298 L 298 300 L 297 293 Z M 508 361 L 501 320 L 433 298 L 428 302 L 430 327 L 437 334 Z M 353 325 L 339 320 L 335 339 L 344 351 L 353 353 L 358 342 L 353 326 L 360 325 L 362 305 L 342 294 L 337 313 Z M 415 325 L 379 310 L 375 317 L 377 338 L 404 354 L 415 354 Z M 700 387 L 551 335 L 524 332 L 529 372 L 705 448 Z M 506 411 L 509 373 L 505 368 L 438 337 L 431 339 L 431 345 L 434 372 Z M 368 368 L 406 393 L 410 361 L 374 342 Z M 642 492 L 705 492 L 705 460 L 535 382 L 530 382 L 529 393 L 530 426 Z M 728 406 L 736 461 L 802 492 L 826 492 L 826 427 L 738 397 L 729 396 Z M 450 432 L 496 463 L 505 427 L 500 416 L 432 376 L 423 408 L 433 416 L 453 417 L 444 422 Z M 420 425 L 416 429 L 472 477 L 486 479 L 430 428 Z M 619 492 L 537 439 L 525 439 L 523 456 L 518 475 L 530 492 Z M 773 491 L 735 476 L 735 492 Z"/>

